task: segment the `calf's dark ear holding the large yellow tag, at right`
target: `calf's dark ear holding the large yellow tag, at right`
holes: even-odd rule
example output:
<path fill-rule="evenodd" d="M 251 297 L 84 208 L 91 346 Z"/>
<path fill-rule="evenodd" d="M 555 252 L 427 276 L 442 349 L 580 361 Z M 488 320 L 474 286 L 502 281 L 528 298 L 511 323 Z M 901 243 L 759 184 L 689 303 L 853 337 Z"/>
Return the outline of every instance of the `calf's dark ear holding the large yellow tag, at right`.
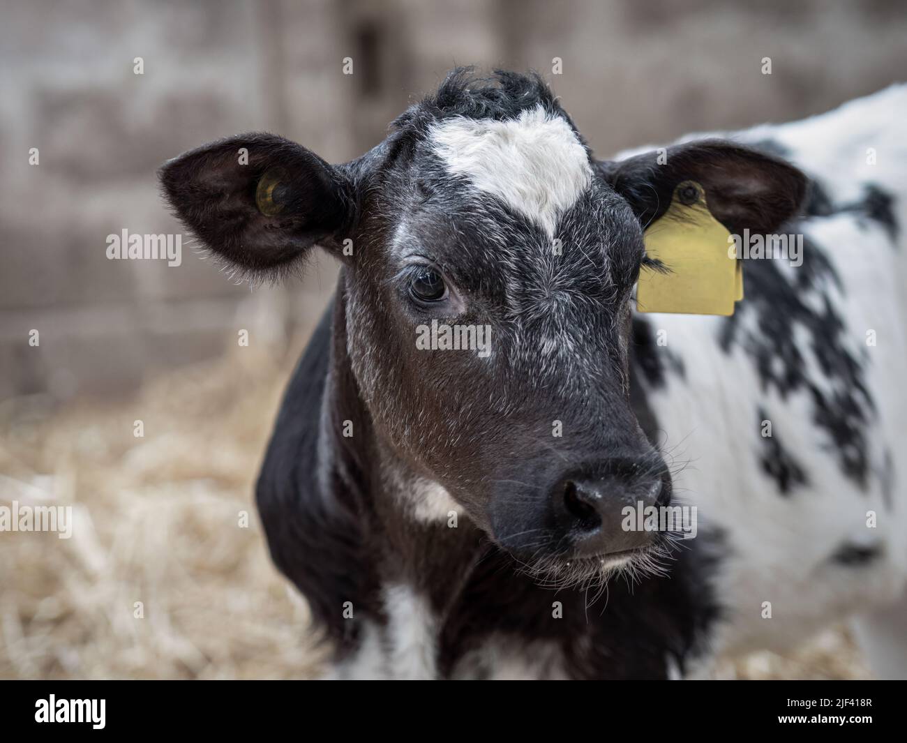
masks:
<path fill-rule="evenodd" d="M 793 165 L 725 140 L 701 140 L 600 161 L 611 188 L 629 202 L 643 227 L 665 213 L 678 183 L 697 181 L 708 210 L 730 232 L 768 234 L 800 209 L 806 177 Z"/>

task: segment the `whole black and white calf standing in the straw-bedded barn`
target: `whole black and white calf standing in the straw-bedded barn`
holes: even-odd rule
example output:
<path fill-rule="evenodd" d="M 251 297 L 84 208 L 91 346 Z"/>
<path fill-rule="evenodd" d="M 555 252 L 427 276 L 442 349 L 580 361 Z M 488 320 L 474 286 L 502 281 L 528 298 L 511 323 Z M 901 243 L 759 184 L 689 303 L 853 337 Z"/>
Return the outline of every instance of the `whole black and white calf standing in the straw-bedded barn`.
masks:
<path fill-rule="evenodd" d="M 541 80 L 458 71 L 356 161 L 249 134 L 165 165 L 253 278 L 344 264 L 258 481 L 333 674 L 673 678 L 897 601 L 905 103 L 597 161 Z M 732 233 L 805 234 L 803 265 L 746 261 L 729 318 L 636 315 L 683 181 Z M 486 352 L 425 348 L 433 323 Z M 626 529 L 672 494 L 696 539 Z"/>

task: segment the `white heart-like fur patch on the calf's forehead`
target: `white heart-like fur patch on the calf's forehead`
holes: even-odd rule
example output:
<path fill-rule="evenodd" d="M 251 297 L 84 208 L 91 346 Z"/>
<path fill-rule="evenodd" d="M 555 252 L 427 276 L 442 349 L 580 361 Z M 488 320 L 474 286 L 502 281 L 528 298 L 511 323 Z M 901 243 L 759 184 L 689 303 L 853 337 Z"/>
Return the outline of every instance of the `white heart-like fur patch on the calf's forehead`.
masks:
<path fill-rule="evenodd" d="M 506 122 L 448 119 L 434 124 L 429 136 L 452 175 L 504 200 L 551 237 L 592 180 L 589 157 L 570 124 L 541 105 Z"/>

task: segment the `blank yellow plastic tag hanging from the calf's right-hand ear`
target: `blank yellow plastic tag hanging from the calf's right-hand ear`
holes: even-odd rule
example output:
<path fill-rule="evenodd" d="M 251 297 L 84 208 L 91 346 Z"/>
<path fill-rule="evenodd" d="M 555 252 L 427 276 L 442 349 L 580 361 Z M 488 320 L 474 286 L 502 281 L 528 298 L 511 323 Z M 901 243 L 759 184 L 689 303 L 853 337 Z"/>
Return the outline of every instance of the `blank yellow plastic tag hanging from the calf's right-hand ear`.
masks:
<path fill-rule="evenodd" d="M 674 190 L 671 205 L 646 230 L 646 253 L 668 269 L 644 266 L 636 289 L 640 312 L 733 315 L 743 298 L 742 261 L 728 257 L 730 233 L 708 210 L 695 181 Z"/>

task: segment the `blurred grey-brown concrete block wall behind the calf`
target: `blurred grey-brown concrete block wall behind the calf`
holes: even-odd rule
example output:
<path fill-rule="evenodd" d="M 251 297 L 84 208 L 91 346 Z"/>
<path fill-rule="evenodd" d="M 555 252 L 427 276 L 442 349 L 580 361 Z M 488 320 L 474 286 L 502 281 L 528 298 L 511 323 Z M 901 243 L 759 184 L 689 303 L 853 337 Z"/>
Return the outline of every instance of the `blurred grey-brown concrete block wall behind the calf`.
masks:
<path fill-rule="evenodd" d="M 252 293 L 187 244 L 178 268 L 106 258 L 108 234 L 181 231 L 154 173 L 200 143 L 265 129 L 346 161 L 415 93 L 475 63 L 544 73 L 607 155 L 872 93 L 907 70 L 902 27 L 890 0 L 6 3 L 0 399 L 128 392 L 219 354 L 239 328 L 279 343 L 317 321 L 330 259 L 302 282 Z"/>

